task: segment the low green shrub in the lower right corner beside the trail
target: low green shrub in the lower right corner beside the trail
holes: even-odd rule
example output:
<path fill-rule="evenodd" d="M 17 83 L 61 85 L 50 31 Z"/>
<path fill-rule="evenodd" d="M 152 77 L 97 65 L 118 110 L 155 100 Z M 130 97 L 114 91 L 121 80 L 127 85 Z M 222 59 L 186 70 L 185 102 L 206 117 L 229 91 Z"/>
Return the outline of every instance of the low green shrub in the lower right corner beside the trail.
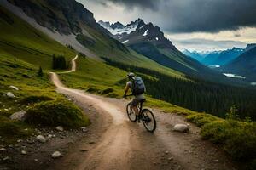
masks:
<path fill-rule="evenodd" d="M 256 158 L 256 124 L 236 120 L 207 123 L 201 128 L 203 139 L 222 144 L 234 159 L 252 161 Z"/>

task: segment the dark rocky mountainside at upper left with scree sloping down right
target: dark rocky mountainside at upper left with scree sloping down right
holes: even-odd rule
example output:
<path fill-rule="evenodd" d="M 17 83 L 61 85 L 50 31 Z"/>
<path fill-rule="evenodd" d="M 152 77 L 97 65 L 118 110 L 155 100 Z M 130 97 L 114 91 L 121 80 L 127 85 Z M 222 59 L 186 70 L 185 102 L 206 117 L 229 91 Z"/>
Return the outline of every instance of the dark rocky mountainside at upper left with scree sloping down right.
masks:
<path fill-rule="evenodd" d="M 3 1 L 0 4 L 9 8 L 13 13 L 19 14 L 23 20 L 43 31 L 49 37 L 63 45 L 71 46 L 86 56 L 94 59 L 109 58 L 155 71 L 163 71 L 174 77 L 182 77 L 182 73 L 159 65 L 110 37 L 109 32 L 99 26 L 93 18 L 93 14 L 80 3 L 74 0 L 68 0 L 65 3 L 60 2 L 60 0 L 54 2 L 49 0 L 13 0 L 9 3 Z M 60 3 L 60 5 L 55 6 L 55 3 Z M 58 27 L 61 26 L 62 22 L 65 22 L 65 29 Z"/>

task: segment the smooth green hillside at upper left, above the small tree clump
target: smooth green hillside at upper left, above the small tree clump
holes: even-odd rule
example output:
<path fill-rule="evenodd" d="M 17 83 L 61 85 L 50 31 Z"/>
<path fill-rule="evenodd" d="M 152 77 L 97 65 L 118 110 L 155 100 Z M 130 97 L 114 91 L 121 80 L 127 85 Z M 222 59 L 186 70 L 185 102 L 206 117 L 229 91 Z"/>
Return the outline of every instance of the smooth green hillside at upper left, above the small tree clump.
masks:
<path fill-rule="evenodd" d="M 0 54 L 14 56 L 33 65 L 51 69 L 52 55 L 64 55 L 67 60 L 75 53 L 45 36 L 25 21 L 0 6 Z"/>

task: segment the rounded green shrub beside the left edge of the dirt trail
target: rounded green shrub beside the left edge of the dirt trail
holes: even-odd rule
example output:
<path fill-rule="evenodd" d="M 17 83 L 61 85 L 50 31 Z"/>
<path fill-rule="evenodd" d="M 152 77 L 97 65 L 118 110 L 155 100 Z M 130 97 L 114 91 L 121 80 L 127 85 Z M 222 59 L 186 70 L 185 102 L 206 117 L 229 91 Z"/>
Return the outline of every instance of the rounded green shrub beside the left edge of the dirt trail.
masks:
<path fill-rule="evenodd" d="M 27 122 L 44 126 L 83 127 L 89 124 L 79 108 L 67 101 L 45 101 L 27 111 Z"/>

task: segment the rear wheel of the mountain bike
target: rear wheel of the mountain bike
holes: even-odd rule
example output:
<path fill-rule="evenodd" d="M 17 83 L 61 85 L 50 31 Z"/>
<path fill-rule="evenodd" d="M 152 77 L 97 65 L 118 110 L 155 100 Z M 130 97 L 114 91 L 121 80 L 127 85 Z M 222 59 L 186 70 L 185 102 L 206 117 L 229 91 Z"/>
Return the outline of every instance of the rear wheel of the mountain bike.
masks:
<path fill-rule="evenodd" d="M 156 121 L 153 112 L 148 109 L 143 109 L 142 116 L 144 127 L 147 129 L 148 132 L 154 133 L 156 129 Z"/>

